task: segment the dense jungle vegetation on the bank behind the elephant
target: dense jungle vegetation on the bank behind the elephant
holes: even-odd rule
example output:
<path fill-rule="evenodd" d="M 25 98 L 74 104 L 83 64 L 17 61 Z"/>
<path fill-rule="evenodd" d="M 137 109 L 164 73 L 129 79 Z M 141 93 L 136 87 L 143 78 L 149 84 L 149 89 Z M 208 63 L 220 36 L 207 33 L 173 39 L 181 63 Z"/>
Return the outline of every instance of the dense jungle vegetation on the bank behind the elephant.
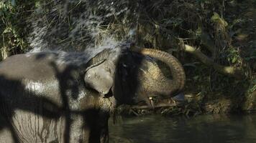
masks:
<path fill-rule="evenodd" d="M 160 114 L 256 109 L 254 0 L 1 0 L 0 34 L 1 60 L 122 41 L 167 51 L 186 71 L 186 104 L 157 109 Z"/>

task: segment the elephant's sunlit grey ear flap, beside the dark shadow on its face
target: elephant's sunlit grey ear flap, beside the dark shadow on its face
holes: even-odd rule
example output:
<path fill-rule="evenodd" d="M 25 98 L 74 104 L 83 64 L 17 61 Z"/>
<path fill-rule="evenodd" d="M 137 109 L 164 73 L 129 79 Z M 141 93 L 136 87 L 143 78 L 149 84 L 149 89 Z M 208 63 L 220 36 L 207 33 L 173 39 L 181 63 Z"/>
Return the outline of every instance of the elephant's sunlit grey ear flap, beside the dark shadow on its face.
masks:
<path fill-rule="evenodd" d="M 89 67 L 86 70 L 84 81 L 87 87 L 101 94 L 109 93 L 114 84 L 114 63 L 106 60 Z"/>

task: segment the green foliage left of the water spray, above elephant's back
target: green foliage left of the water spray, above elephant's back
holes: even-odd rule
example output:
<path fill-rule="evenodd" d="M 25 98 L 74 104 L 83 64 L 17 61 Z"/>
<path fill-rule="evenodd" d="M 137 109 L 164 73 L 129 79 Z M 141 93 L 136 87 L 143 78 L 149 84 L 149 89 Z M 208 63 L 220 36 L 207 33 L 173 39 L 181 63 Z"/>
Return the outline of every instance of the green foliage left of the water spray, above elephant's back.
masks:
<path fill-rule="evenodd" d="M 1 59 L 27 51 L 26 19 L 35 1 L 0 1 Z"/>

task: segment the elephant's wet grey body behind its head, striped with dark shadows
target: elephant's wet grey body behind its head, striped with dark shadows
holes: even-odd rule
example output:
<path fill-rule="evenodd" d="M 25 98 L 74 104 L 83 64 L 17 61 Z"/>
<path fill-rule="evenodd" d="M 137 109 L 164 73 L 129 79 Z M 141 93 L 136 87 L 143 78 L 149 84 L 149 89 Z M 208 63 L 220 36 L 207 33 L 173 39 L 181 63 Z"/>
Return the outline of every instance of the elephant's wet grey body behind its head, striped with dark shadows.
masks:
<path fill-rule="evenodd" d="M 84 64 L 58 54 L 0 65 L 0 142 L 108 142 L 110 102 L 83 82 Z"/>

